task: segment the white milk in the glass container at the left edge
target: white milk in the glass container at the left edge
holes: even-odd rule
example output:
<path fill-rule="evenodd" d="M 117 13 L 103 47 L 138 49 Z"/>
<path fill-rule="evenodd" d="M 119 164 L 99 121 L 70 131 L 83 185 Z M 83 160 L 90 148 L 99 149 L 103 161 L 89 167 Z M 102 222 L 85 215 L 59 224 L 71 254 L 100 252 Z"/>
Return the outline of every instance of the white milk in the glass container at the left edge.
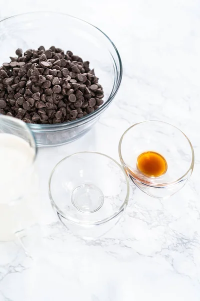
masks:
<path fill-rule="evenodd" d="M 35 149 L 24 139 L 0 133 L 0 241 L 30 227 L 39 217 Z"/>

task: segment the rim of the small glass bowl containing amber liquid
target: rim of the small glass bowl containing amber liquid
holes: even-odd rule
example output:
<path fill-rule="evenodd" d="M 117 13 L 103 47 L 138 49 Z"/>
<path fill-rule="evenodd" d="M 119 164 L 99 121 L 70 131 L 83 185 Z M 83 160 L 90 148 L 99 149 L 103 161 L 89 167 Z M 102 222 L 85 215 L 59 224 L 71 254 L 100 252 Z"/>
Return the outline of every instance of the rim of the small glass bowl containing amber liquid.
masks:
<path fill-rule="evenodd" d="M 132 171 L 130 171 L 130 169 L 127 167 L 127 165 L 125 164 L 124 160 L 123 160 L 123 156 L 121 154 L 121 144 L 122 144 L 122 141 L 123 141 L 123 138 L 125 136 L 125 134 L 130 130 L 132 129 L 134 126 L 138 125 L 138 124 L 141 124 L 141 123 L 147 123 L 147 122 L 158 122 L 158 123 L 165 123 L 167 125 L 170 125 L 174 128 L 176 128 L 180 133 L 182 133 L 184 135 L 184 137 L 187 139 L 187 142 L 189 143 L 189 146 L 191 148 L 191 164 L 188 168 L 188 170 L 184 173 L 183 176 L 181 176 L 180 178 L 178 178 L 177 180 L 174 180 L 174 181 L 169 181 L 169 182 L 166 182 L 166 183 L 153 183 L 153 182 L 148 182 L 148 181 L 145 181 L 141 178 L 139 178 L 137 175 L 135 175 Z M 153 187 L 153 188 L 165 188 L 165 187 L 168 187 L 168 186 L 171 186 L 171 185 L 174 185 L 174 184 L 178 184 L 180 183 L 181 181 L 184 180 L 184 177 L 189 173 L 189 171 L 191 171 L 191 174 L 192 174 L 192 171 L 193 171 L 193 167 L 194 167 L 194 150 L 193 150 L 193 146 L 189 140 L 189 138 L 175 125 L 173 124 L 170 124 L 168 122 L 165 122 L 165 121 L 160 121 L 160 120 L 145 120 L 145 121 L 141 121 L 141 122 L 137 122 L 131 126 L 129 126 L 125 131 L 124 133 L 122 134 L 120 140 L 119 140 L 119 143 L 118 143 L 118 154 L 119 154 L 119 159 L 120 159 L 120 162 L 121 162 L 121 165 L 123 166 L 124 170 L 126 171 L 126 173 L 128 174 L 129 177 L 133 178 L 135 181 L 138 181 L 140 182 L 141 184 L 147 186 L 147 187 Z M 153 179 L 153 178 L 152 178 Z"/>

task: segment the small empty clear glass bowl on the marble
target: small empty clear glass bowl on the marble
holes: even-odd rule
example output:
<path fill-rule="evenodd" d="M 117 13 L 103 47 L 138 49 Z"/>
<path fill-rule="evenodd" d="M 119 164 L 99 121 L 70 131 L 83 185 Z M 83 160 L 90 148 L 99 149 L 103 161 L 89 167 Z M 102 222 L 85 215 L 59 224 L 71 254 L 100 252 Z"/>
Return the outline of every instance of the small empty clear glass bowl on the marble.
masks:
<path fill-rule="evenodd" d="M 110 157 L 81 152 L 54 167 L 48 193 L 60 221 L 75 235 L 94 239 L 121 217 L 129 183 L 124 170 Z"/>

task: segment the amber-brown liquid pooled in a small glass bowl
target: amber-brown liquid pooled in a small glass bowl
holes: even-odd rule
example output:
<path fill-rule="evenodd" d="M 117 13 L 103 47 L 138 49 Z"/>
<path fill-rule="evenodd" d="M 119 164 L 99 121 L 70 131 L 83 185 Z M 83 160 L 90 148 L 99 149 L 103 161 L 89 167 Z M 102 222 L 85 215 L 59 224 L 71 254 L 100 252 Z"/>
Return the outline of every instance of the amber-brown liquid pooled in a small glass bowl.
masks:
<path fill-rule="evenodd" d="M 166 160 L 158 153 L 145 152 L 137 158 L 137 169 L 147 177 L 160 177 L 167 170 Z"/>

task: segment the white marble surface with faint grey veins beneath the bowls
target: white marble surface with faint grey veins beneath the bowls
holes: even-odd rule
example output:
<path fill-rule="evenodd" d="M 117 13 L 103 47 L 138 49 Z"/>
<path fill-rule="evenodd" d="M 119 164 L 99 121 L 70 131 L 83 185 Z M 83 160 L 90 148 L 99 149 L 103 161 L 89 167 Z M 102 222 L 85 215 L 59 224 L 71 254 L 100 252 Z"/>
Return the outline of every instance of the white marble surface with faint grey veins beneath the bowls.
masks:
<path fill-rule="evenodd" d="M 88 134 L 39 150 L 37 166 L 46 178 L 41 180 L 45 251 L 31 260 L 16 244 L 0 243 L 0 301 L 199 301 L 199 0 L 0 0 L 0 5 L 1 19 L 51 10 L 87 20 L 113 40 L 124 71 L 113 104 Z M 195 152 L 191 179 L 166 201 L 131 186 L 125 216 L 114 229 L 92 243 L 75 238 L 51 211 L 50 170 L 79 150 L 118 160 L 122 132 L 145 119 L 168 121 L 188 135 Z"/>

